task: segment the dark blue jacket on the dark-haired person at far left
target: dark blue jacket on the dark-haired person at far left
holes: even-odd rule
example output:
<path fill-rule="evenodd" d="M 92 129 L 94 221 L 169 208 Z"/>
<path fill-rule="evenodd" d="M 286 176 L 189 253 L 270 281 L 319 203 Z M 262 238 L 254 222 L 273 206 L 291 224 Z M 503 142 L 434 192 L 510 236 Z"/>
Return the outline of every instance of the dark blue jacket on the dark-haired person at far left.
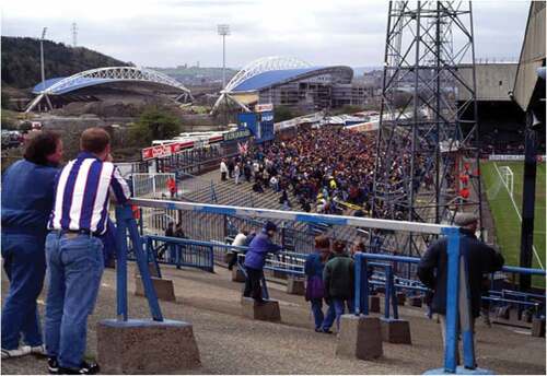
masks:
<path fill-rule="evenodd" d="M 47 234 L 58 168 L 21 160 L 2 177 L 2 232 Z"/>

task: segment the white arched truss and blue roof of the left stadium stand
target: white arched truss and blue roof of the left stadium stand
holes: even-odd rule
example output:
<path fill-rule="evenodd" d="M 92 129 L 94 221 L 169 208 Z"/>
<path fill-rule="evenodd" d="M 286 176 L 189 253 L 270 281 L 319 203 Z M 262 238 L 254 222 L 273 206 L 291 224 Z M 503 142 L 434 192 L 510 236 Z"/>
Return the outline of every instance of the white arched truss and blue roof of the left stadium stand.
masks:
<path fill-rule="evenodd" d="M 193 98 L 191 93 L 178 81 L 151 69 L 137 67 L 105 67 L 86 70 L 68 78 L 49 80 L 49 85 L 36 85 L 34 93 L 38 96 L 26 108 L 31 111 L 44 96 L 61 95 L 82 87 L 113 82 L 148 82 L 176 89 L 186 98 Z"/>

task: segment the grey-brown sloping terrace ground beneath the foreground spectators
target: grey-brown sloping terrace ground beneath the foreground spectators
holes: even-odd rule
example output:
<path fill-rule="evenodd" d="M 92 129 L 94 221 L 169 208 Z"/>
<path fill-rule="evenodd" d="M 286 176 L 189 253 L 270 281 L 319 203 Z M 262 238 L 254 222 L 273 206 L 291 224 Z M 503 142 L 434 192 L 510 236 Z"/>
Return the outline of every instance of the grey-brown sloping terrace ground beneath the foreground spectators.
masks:
<path fill-rule="evenodd" d="M 316 333 L 309 304 L 303 296 L 289 295 L 286 286 L 269 283 L 279 301 L 281 322 L 244 318 L 241 313 L 241 283 L 230 272 L 216 273 L 162 267 L 163 278 L 175 285 L 177 302 L 161 302 L 165 318 L 191 322 L 199 346 L 201 367 L 177 374 L 421 374 L 442 366 L 443 345 L 439 325 L 424 316 L 424 308 L 399 307 L 400 318 L 410 321 L 412 344 L 383 343 L 380 360 L 359 361 L 335 356 L 336 334 Z M 114 318 L 115 271 L 106 269 L 94 314 L 89 320 L 86 357 L 96 351 L 96 322 Z M 133 269 L 128 271 L 129 316 L 149 318 L 144 297 L 133 295 Z M 9 282 L 2 273 L 2 297 Z M 46 286 L 47 289 L 47 286 Z M 44 312 L 45 290 L 39 297 Z M 43 317 L 42 317 L 43 318 Z M 545 374 L 545 339 L 529 330 L 492 326 L 477 320 L 478 364 L 496 374 Z M 46 361 L 27 355 L 3 361 L 2 374 L 46 374 Z"/>

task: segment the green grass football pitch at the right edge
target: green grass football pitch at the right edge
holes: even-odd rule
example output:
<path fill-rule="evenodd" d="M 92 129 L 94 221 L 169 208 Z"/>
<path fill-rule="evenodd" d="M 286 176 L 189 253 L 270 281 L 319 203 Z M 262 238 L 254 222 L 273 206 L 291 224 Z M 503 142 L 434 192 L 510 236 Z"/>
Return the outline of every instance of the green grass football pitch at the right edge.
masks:
<path fill-rule="evenodd" d="M 481 174 L 485 189 L 490 204 L 490 211 L 496 225 L 498 247 L 505 258 L 505 265 L 519 266 L 519 255 L 521 247 L 521 221 L 511 201 L 508 190 L 501 184 L 501 177 L 496 168 L 509 166 L 514 175 L 514 202 L 522 214 L 522 189 L 524 162 L 484 162 L 481 163 Z M 545 163 L 537 165 L 536 178 L 536 202 L 534 222 L 534 246 L 537 255 L 545 267 Z M 533 267 L 539 268 L 537 257 L 533 256 Z M 539 282 L 538 280 L 536 280 Z M 535 281 L 535 282 L 536 282 Z M 539 282 L 544 285 L 544 281 Z M 536 284 L 536 283 L 534 283 Z"/>

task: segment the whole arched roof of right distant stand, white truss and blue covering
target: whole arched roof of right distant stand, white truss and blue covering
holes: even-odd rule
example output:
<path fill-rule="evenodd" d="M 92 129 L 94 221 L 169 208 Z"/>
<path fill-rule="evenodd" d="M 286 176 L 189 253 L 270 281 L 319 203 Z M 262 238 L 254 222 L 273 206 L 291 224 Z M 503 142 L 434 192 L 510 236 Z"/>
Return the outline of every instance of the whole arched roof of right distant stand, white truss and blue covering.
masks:
<path fill-rule="evenodd" d="M 266 57 L 252 61 L 233 77 L 224 92 L 253 92 L 313 75 L 339 73 L 353 77 L 349 67 L 313 67 L 310 63 L 286 57 Z"/>

